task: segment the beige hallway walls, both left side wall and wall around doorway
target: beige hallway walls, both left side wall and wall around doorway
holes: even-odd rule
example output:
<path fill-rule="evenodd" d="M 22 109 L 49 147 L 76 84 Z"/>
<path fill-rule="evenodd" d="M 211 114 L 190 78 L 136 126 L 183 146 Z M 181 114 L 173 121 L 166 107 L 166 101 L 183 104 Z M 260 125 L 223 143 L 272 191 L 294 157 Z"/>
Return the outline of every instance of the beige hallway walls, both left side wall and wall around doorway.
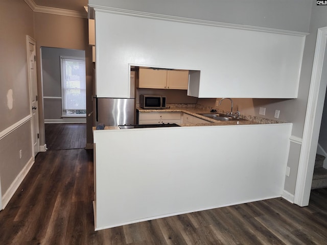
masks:
<path fill-rule="evenodd" d="M 92 111 L 93 68 L 92 50 L 88 45 L 87 19 L 33 12 L 22 0 L 0 1 L 0 180 L 4 196 L 22 168 L 32 157 L 30 120 L 17 127 L 29 116 L 26 35 L 36 40 L 38 93 L 42 96 L 40 79 L 40 47 L 62 47 L 85 50 L 87 113 Z M 7 99 L 8 91 L 12 97 Z M 42 100 L 39 100 L 40 144 L 44 139 Z M 92 142 L 93 114 L 87 118 L 87 142 Z M 22 150 L 22 158 L 19 151 Z M 1 204 L 1 202 L 0 202 Z"/>

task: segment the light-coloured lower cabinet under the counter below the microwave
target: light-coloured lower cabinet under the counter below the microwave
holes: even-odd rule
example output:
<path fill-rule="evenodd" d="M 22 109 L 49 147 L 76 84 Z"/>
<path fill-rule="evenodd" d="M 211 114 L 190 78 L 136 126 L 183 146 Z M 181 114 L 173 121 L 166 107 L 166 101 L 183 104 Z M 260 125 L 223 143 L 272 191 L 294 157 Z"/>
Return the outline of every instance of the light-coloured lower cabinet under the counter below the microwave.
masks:
<path fill-rule="evenodd" d="M 138 124 L 180 124 L 180 112 L 139 112 Z"/>

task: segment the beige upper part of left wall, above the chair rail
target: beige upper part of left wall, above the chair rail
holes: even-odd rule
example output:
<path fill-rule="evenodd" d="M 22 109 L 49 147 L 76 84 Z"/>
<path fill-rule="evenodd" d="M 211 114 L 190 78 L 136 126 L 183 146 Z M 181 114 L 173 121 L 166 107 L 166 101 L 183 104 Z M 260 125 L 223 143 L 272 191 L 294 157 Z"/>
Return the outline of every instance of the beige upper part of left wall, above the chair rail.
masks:
<path fill-rule="evenodd" d="M 34 38 L 33 12 L 24 1 L 0 2 L 0 131 L 30 114 L 26 35 Z M 12 90 L 12 109 L 7 93 Z M 10 99 L 9 99 L 10 101 Z"/>

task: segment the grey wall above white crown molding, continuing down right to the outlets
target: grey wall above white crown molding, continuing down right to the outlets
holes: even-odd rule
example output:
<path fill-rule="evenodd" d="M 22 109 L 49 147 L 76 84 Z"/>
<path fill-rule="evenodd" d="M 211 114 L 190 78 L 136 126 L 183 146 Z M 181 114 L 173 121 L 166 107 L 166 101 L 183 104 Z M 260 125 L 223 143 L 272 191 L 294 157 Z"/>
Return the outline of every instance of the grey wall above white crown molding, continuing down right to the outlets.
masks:
<path fill-rule="evenodd" d="M 258 27 L 309 32 L 310 34 L 306 37 L 303 53 L 297 99 L 279 101 L 261 101 L 261 99 L 253 99 L 251 102 L 253 105 L 258 105 L 258 107 L 264 105 L 269 116 L 273 115 L 275 109 L 280 109 L 281 118 L 293 123 L 292 135 L 298 140 L 296 140 L 297 142 L 290 149 L 288 165 L 291 167 L 291 174 L 290 177 L 286 177 L 285 188 L 287 191 L 294 194 L 298 155 L 307 109 L 317 29 L 327 26 L 327 8 L 325 6 L 317 6 L 316 1 L 306 0 L 231 0 L 215 2 L 205 0 L 201 1 L 201 6 L 197 5 L 196 1 L 183 0 L 174 1 L 174 3 L 147 0 L 124 2 L 118 0 L 89 0 L 89 4 Z M 242 104 L 242 102 L 240 102 L 240 104 Z M 258 112 L 259 111 L 254 110 L 254 113 Z"/>

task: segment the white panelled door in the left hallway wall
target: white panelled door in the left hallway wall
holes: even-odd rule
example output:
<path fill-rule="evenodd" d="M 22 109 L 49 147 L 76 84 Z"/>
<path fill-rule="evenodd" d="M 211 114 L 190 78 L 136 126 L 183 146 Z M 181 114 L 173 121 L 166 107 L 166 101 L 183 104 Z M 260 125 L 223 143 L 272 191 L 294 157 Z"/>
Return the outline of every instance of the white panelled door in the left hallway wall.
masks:
<path fill-rule="evenodd" d="M 33 156 L 40 151 L 39 139 L 39 113 L 38 113 L 38 96 L 37 96 L 37 79 L 36 79 L 36 52 L 35 40 L 27 36 L 27 56 L 29 71 L 29 89 L 30 89 L 30 106 L 32 113 L 32 148 Z"/>

